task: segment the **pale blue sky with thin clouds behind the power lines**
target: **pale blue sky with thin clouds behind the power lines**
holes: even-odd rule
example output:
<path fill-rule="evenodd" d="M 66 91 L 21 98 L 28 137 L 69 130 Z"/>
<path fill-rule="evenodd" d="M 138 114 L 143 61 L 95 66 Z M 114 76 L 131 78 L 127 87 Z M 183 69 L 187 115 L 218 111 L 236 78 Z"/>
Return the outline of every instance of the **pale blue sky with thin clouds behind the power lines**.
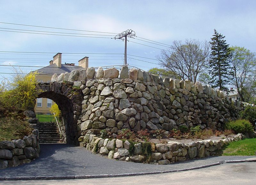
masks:
<path fill-rule="evenodd" d="M 169 45 L 171 45 L 174 40 L 185 40 L 187 38 L 210 41 L 213 35 L 213 29 L 216 29 L 219 33 L 226 36 L 227 43 L 230 44 L 230 46 L 237 45 L 253 52 L 256 51 L 255 1 L 1 0 L 0 2 L 0 22 L 5 23 L 111 33 L 121 33 L 127 29 L 132 29 L 138 37 Z M 92 32 L 0 23 L 0 30 L 15 31 L 4 28 L 93 34 Z M 0 31 L 0 51 L 47 53 L 8 54 L 0 52 L 1 65 L 47 66 L 49 64 L 48 62 L 57 52 L 63 53 L 63 63 L 76 63 L 77 65 L 79 59 L 84 56 L 89 56 L 89 66 L 123 64 L 124 55 L 122 53 L 124 53 L 124 42 L 118 40 L 5 31 Z M 136 38 L 140 39 L 138 37 Z M 160 49 L 166 49 L 164 46 L 143 42 L 137 39 L 129 40 Z M 157 67 L 158 62 L 154 59 L 156 59 L 156 55 L 160 54 L 161 50 L 133 42 L 128 42 L 127 54 L 130 55 L 128 56 L 128 64 L 146 71 L 151 67 Z M 156 64 L 147 63 L 145 61 Z M 9 68 L 9 66 L 0 66 L 0 73 L 12 73 Z M 31 69 L 37 69 L 36 67 L 20 68 L 26 72 Z M 8 74 L 2 75 L 8 76 Z"/>

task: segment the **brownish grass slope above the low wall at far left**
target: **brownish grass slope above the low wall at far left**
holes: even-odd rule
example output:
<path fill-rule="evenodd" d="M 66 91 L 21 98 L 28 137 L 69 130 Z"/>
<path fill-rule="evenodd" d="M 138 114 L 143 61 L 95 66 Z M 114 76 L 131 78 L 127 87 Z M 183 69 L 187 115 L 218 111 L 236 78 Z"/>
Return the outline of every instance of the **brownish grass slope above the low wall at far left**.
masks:
<path fill-rule="evenodd" d="M 0 141 L 23 139 L 32 133 L 26 116 L 22 112 L 9 112 L 0 110 Z"/>

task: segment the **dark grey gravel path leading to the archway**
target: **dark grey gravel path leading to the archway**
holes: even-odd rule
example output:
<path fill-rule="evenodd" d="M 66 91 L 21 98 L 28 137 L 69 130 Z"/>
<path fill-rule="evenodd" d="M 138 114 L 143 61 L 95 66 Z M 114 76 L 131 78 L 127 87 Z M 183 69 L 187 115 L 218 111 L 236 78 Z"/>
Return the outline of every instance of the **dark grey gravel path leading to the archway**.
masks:
<path fill-rule="evenodd" d="M 220 156 L 170 165 L 150 165 L 108 159 L 99 154 L 92 154 L 84 147 L 68 144 L 41 144 L 40 146 L 39 158 L 25 165 L 0 170 L 0 178 L 159 172 L 204 166 L 223 160 L 250 158 L 249 156 Z"/>

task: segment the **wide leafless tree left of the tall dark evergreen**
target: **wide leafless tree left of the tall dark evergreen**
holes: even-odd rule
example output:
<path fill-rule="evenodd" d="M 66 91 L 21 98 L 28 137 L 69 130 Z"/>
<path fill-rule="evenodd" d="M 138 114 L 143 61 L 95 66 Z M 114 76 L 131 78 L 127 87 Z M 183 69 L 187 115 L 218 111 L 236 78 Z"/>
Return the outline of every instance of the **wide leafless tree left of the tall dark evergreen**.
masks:
<path fill-rule="evenodd" d="M 173 71 L 182 80 L 188 79 L 196 82 L 198 74 L 208 64 L 209 53 L 209 42 L 187 39 L 185 43 L 173 41 L 172 46 L 167 50 L 162 50 L 156 58 L 166 71 Z"/>

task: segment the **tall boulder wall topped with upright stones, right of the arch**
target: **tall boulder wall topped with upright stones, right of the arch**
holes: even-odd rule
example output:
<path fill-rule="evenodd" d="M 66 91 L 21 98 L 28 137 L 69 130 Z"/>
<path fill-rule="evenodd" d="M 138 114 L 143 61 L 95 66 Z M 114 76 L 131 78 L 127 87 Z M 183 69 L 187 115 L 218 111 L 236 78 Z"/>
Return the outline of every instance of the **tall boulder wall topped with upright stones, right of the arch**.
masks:
<path fill-rule="evenodd" d="M 101 129 L 115 137 L 121 129 L 164 129 L 200 126 L 221 129 L 239 117 L 244 104 L 228 99 L 209 85 L 165 78 L 123 66 L 95 72 L 93 67 L 53 75 L 54 83 L 80 87 L 83 101 L 77 118 L 78 136 Z M 252 105 L 254 106 L 254 105 Z"/>

